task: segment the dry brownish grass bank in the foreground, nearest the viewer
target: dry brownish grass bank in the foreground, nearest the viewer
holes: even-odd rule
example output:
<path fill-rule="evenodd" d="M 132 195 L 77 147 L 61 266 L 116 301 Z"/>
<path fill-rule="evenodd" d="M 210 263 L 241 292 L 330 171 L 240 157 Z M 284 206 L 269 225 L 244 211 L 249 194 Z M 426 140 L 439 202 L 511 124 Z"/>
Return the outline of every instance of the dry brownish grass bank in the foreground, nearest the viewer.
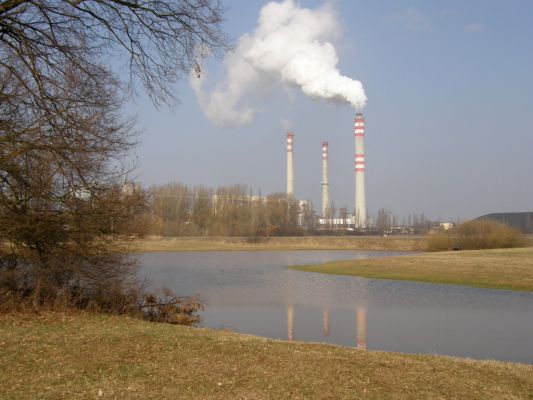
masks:
<path fill-rule="evenodd" d="M 103 315 L 1 316 L 2 399 L 530 399 L 533 366 Z"/>

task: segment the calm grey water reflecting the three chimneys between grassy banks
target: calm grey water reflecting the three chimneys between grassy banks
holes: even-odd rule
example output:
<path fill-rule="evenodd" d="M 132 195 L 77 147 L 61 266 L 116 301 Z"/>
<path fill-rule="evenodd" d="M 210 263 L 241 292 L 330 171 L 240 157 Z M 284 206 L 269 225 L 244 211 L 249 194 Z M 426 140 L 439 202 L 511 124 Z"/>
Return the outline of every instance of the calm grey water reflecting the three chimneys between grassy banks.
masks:
<path fill-rule="evenodd" d="M 154 287 L 198 294 L 202 325 L 361 349 L 533 363 L 533 293 L 292 271 L 380 251 L 146 253 Z"/>

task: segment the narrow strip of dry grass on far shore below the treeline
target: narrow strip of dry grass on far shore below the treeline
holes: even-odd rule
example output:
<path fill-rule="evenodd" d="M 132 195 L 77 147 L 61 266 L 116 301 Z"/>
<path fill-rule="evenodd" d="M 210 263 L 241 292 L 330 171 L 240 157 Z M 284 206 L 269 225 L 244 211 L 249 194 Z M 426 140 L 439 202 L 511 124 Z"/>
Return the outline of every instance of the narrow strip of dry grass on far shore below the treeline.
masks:
<path fill-rule="evenodd" d="M 422 236 L 298 236 L 271 238 L 155 237 L 138 240 L 136 247 L 150 251 L 256 251 L 256 250 L 412 250 L 426 247 Z"/>

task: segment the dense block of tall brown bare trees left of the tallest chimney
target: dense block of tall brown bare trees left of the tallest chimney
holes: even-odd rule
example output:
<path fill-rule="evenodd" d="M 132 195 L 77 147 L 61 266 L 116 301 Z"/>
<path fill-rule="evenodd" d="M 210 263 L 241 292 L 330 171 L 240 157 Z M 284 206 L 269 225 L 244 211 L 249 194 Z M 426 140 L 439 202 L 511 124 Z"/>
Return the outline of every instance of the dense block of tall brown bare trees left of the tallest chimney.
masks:
<path fill-rule="evenodd" d="M 148 233 L 161 236 L 289 236 L 313 230 L 311 204 L 285 193 L 254 196 L 245 185 L 209 189 L 180 183 L 149 189 Z"/>

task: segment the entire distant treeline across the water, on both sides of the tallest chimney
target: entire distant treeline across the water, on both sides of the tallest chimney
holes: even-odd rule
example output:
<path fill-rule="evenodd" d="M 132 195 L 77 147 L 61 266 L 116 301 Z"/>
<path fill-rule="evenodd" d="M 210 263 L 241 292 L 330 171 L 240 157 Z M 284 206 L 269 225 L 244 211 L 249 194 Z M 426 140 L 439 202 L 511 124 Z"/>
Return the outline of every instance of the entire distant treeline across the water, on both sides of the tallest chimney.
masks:
<path fill-rule="evenodd" d="M 285 193 L 254 195 L 246 185 L 189 187 L 181 183 L 154 185 L 147 190 L 144 216 L 147 234 L 158 236 L 295 236 L 347 234 L 346 229 L 319 224 L 313 204 Z M 331 218 L 346 219 L 347 208 L 330 208 Z M 348 219 L 346 219 L 348 221 Z M 367 234 L 426 233 L 439 225 L 424 214 L 409 214 L 401 222 L 389 210 L 370 215 Z"/>

